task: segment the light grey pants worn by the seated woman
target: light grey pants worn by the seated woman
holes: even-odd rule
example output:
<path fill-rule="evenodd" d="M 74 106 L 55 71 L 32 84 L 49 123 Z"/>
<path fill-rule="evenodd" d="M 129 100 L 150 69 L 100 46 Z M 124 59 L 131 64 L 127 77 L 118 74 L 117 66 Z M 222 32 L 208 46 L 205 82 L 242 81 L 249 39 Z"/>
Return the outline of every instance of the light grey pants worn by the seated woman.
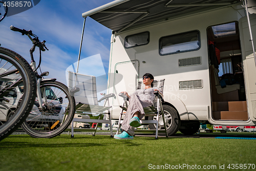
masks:
<path fill-rule="evenodd" d="M 151 103 L 147 100 L 141 101 L 139 99 L 139 96 L 134 93 L 130 96 L 129 102 L 130 102 L 130 105 L 127 108 L 126 114 L 123 118 L 121 129 L 123 129 L 130 135 L 134 135 L 135 129 L 134 129 L 134 127 L 131 127 L 129 125 L 131 118 L 133 117 L 135 112 L 139 111 L 140 112 L 139 118 L 142 119 L 145 115 L 143 108 L 151 106 Z"/>

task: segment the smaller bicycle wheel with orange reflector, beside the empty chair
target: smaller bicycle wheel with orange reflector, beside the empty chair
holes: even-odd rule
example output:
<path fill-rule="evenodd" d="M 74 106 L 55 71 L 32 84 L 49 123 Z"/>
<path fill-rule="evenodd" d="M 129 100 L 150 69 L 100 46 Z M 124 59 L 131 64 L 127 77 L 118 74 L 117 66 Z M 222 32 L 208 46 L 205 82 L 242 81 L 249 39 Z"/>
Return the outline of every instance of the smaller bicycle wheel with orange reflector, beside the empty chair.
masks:
<path fill-rule="evenodd" d="M 68 87 L 57 81 L 40 84 L 43 107 L 38 99 L 22 128 L 35 138 L 52 138 L 65 131 L 75 114 L 75 99 Z"/>

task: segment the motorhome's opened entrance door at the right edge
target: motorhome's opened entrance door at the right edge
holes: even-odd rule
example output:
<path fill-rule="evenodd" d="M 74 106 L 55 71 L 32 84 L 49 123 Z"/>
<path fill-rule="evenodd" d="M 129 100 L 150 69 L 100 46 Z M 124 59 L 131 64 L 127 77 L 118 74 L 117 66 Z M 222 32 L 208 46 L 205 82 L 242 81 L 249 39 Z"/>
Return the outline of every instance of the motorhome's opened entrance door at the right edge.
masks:
<path fill-rule="evenodd" d="M 256 14 L 249 15 L 252 37 L 256 40 Z M 251 120 L 256 121 L 256 65 L 254 62 L 252 44 L 250 41 L 250 33 L 247 17 L 239 20 L 242 60 L 244 68 L 245 88 L 247 109 Z M 255 49 L 255 44 L 254 44 Z"/>

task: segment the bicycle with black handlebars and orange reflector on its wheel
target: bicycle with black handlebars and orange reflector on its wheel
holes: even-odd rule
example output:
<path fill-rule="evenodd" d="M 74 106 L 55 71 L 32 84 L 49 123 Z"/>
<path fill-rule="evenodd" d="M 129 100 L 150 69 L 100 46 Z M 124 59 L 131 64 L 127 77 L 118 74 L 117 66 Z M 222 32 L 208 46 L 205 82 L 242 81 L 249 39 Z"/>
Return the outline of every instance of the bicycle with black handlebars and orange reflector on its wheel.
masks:
<path fill-rule="evenodd" d="M 39 38 L 31 30 L 21 30 L 13 26 L 12 31 L 27 35 L 33 42 L 30 49 L 31 67 L 37 79 L 36 100 L 26 121 L 22 124 L 23 130 L 35 138 L 52 138 L 67 129 L 75 114 L 75 99 L 69 93 L 68 87 L 56 79 L 44 79 L 49 72 L 42 72 L 38 75 L 37 69 L 41 64 L 41 51 L 46 51 L 45 40 L 40 42 Z M 32 38 L 33 37 L 33 38 Z M 36 67 L 33 52 L 39 47 L 39 64 Z M 48 50 L 48 49 L 47 49 Z"/>

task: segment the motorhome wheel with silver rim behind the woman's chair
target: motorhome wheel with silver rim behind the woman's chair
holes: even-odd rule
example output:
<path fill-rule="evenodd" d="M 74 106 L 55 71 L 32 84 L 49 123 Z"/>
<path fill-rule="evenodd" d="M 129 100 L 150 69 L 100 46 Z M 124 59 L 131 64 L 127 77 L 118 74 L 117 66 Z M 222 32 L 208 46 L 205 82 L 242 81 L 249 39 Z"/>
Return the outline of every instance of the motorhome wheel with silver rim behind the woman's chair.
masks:
<path fill-rule="evenodd" d="M 164 112 L 164 118 L 165 118 L 165 125 L 167 128 L 167 134 L 168 136 L 176 134 L 176 132 L 180 128 L 180 116 L 176 109 L 174 109 L 172 106 L 169 105 L 163 105 L 163 112 Z M 150 116 L 148 117 L 148 120 L 156 120 L 157 116 Z M 148 125 L 150 129 L 156 129 L 156 124 L 149 124 Z M 159 124 L 158 124 L 159 130 L 164 130 L 164 124 L 162 116 L 159 116 Z M 165 135 L 165 133 L 159 133 L 159 135 Z"/>

